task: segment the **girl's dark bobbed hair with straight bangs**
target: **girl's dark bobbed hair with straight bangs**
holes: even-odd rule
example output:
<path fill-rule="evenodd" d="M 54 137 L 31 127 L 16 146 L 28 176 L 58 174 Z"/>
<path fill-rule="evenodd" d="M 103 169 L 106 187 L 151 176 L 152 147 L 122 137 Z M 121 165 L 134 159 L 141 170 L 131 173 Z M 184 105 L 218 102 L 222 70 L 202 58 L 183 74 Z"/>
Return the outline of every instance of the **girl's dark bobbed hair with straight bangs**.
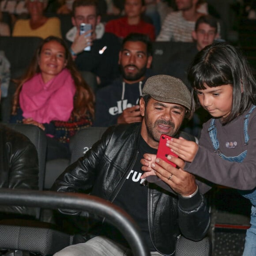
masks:
<path fill-rule="evenodd" d="M 237 47 L 225 42 L 208 45 L 196 54 L 188 68 L 188 80 L 194 89 L 204 90 L 230 84 L 233 86 L 231 113 L 223 120 L 227 124 L 256 104 L 256 80 L 245 56 Z"/>

